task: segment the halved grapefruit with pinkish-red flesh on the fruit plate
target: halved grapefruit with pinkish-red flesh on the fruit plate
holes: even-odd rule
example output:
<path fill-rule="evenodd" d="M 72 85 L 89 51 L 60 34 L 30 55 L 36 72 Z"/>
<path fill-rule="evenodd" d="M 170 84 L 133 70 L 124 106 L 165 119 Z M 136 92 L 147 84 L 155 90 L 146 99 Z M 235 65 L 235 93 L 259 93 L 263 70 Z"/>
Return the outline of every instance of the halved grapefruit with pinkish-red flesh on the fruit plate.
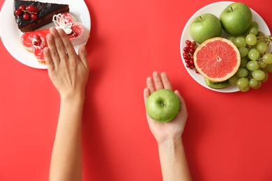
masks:
<path fill-rule="evenodd" d="M 225 81 L 237 72 L 241 56 L 233 42 L 217 37 L 202 42 L 195 49 L 194 63 L 206 79 Z"/>

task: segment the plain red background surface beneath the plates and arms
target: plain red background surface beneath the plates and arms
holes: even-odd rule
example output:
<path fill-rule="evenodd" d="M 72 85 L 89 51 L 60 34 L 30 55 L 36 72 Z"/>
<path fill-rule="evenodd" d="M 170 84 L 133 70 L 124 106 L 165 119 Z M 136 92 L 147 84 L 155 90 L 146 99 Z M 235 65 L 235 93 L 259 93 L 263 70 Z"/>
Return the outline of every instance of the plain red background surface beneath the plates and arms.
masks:
<path fill-rule="evenodd" d="M 197 84 L 181 61 L 183 27 L 213 2 L 86 0 L 84 180 L 162 180 L 143 100 L 154 70 L 167 72 L 186 100 L 183 141 L 193 180 L 272 180 L 272 78 L 259 90 L 217 93 Z M 272 29 L 270 0 L 241 2 Z M 0 54 L 0 180 L 48 180 L 59 94 L 47 70 L 16 61 L 2 42 Z"/>

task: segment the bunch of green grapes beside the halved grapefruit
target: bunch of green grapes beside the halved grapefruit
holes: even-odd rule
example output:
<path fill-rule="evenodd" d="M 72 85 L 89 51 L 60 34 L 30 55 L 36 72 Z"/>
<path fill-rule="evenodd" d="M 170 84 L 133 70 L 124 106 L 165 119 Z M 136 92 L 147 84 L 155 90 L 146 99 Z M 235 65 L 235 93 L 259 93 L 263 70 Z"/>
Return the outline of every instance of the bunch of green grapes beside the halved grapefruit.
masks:
<path fill-rule="evenodd" d="M 228 38 L 234 42 L 241 56 L 239 70 L 229 78 L 229 84 L 246 92 L 250 88 L 260 88 L 269 79 L 268 72 L 272 72 L 272 52 L 268 52 L 271 38 L 271 35 L 265 36 L 258 30 L 257 22 L 252 22 L 245 35 Z"/>

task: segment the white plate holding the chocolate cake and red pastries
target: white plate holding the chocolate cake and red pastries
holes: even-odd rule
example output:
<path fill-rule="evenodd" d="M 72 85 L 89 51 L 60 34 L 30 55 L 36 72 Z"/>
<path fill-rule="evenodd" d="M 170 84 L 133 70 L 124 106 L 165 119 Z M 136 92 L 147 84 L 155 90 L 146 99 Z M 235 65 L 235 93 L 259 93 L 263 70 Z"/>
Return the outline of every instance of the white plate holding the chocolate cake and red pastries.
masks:
<path fill-rule="evenodd" d="M 47 3 L 66 3 L 69 5 L 70 13 L 77 19 L 77 22 L 82 23 L 86 29 L 91 31 L 91 17 L 89 10 L 84 0 L 40 0 Z M 28 65 L 31 68 L 47 69 L 46 65 L 38 63 L 36 57 L 28 52 L 21 43 L 22 32 L 17 28 L 15 17 L 13 14 L 13 1 L 6 0 L 3 3 L 0 14 L 0 36 L 3 45 L 8 52 L 17 60 Z M 54 26 L 54 23 L 47 24 L 40 29 L 47 29 Z M 85 42 L 86 43 L 86 42 Z M 78 52 L 80 45 L 75 46 L 75 51 Z"/>

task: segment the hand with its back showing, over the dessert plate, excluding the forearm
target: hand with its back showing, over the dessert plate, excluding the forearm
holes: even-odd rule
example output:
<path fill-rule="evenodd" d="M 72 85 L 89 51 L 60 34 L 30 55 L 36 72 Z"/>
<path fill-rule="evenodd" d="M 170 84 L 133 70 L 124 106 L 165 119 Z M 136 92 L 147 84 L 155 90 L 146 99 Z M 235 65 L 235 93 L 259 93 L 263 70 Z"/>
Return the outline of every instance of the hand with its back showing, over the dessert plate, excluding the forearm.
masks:
<path fill-rule="evenodd" d="M 52 83 L 61 97 L 81 93 L 84 95 L 89 78 L 89 62 L 84 45 L 78 55 L 62 29 L 50 28 L 48 48 L 44 49 L 45 62 Z"/>

